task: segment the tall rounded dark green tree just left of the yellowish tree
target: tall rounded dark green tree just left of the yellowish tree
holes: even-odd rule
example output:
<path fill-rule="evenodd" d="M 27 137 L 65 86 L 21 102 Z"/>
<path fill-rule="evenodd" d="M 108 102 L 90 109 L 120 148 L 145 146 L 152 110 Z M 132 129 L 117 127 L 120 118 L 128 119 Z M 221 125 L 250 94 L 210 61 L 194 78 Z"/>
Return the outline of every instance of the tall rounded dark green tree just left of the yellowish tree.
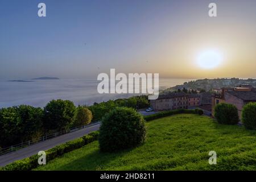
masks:
<path fill-rule="evenodd" d="M 64 130 L 68 129 L 74 117 L 76 107 L 71 101 L 52 100 L 44 107 L 44 129 Z"/>

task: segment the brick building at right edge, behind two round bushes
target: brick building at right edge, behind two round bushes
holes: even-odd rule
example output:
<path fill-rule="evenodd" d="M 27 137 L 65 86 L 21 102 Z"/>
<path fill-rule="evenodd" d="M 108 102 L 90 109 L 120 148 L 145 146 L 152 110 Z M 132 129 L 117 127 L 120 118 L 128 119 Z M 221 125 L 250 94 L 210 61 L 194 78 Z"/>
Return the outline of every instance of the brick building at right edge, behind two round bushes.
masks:
<path fill-rule="evenodd" d="M 220 94 L 212 97 L 212 113 L 214 113 L 214 107 L 221 102 L 235 105 L 241 117 L 242 107 L 249 102 L 256 102 L 256 90 L 248 85 L 247 87 L 240 85 L 236 88 L 222 88 Z"/>

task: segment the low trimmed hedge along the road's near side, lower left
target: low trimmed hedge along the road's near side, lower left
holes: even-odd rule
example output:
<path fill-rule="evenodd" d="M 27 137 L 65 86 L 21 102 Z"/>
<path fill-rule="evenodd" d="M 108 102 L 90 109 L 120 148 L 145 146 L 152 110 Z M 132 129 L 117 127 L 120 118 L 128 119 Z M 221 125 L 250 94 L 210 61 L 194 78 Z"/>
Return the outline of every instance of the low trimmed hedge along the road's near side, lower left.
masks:
<path fill-rule="evenodd" d="M 84 135 L 81 138 L 72 140 L 70 142 L 60 144 L 46 151 L 46 161 L 49 162 L 67 152 L 81 148 L 88 143 L 98 139 L 99 132 L 93 131 L 88 135 Z M 38 155 L 32 155 L 29 158 L 16 160 L 13 163 L 7 164 L 7 166 L 1 168 L 1 171 L 30 171 L 39 166 Z"/>

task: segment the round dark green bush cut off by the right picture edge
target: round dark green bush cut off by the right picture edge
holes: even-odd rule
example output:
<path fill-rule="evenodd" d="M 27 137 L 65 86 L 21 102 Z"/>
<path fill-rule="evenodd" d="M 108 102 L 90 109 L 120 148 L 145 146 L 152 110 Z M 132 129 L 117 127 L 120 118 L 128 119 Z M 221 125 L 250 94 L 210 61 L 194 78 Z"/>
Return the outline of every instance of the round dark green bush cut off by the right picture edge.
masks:
<path fill-rule="evenodd" d="M 242 122 L 247 129 L 256 130 L 256 103 L 250 102 L 243 106 Z"/>

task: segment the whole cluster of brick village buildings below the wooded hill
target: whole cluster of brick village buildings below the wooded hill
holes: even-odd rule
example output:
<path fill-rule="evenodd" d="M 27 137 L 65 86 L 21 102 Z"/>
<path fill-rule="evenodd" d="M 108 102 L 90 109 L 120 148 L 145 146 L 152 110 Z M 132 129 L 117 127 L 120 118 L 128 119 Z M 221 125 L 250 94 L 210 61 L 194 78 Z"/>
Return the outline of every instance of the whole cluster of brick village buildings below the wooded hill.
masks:
<path fill-rule="evenodd" d="M 150 101 L 150 106 L 159 111 L 199 108 L 204 110 L 204 114 L 213 115 L 214 107 L 222 102 L 235 105 L 241 117 L 242 107 L 249 102 L 256 102 L 256 88 L 248 84 L 214 88 L 208 92 L 204 89 L 183 88 L 162 93 L 157 100 Z"/>

